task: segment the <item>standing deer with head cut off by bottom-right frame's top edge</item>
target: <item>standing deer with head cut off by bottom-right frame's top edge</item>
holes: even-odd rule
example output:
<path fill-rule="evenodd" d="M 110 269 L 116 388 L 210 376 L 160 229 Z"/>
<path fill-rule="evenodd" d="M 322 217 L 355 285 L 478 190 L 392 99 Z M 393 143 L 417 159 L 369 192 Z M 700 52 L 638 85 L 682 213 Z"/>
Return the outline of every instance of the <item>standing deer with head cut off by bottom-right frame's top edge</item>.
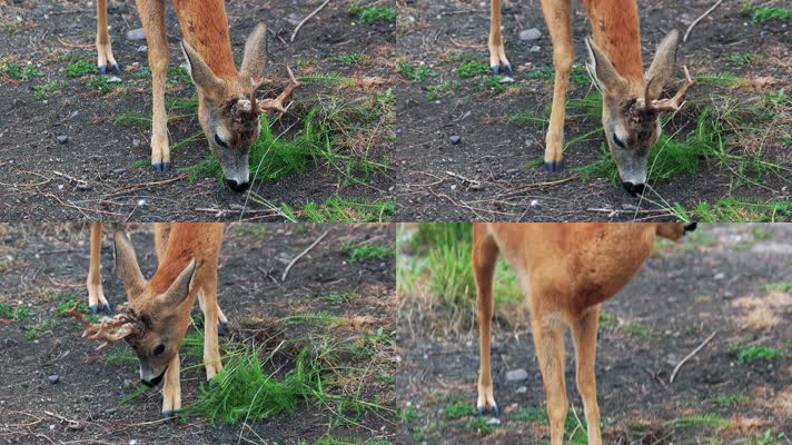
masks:
<path fill-rule="evenodd" d="M 638 271 L 656 237 L 677 241 L 695 228 L 695 222 L 474 224 L 472 266 L 481 350 L 476 403 L 479 415 L 498 414 L 489 344 L 498 254 L 516 273 L 528 303 L 552 445 L 562 445 L 567 413 L 564 382 L 567 327 L 575 348 L 576 383 L 588 425 L 588 445 L 601 445 L 594 373 L 600 305 Z"/>

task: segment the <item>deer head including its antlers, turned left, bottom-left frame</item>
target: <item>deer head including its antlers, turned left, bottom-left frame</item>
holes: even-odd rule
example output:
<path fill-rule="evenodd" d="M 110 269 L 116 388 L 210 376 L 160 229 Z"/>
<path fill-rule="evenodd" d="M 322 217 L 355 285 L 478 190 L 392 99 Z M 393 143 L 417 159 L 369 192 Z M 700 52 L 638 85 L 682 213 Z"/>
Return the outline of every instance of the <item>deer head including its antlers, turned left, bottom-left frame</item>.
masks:
<path fill-rule="evenodd" d="M 158 288 L 143 278 L 135 248 L 122 231 L 115 234 L 116 270 L 127 290 L 128 305 L 111 319 L 90 324 L 76 308 L 69 314 L 85 327 L 83 337 L 103 342 L 97 349 L 125 339 L 135 349 L 140 362 L 140 379 L 148 386 L 161 382 L 168 363 L 178 353 L 185 337 L 192 308 L 188 298 L 192 288 L 196 260 L 185 266 L 160 265 L 167 275 L 176 279 L 167 288 Z M 178 268 L 178 270 L 176 270 Z"/>

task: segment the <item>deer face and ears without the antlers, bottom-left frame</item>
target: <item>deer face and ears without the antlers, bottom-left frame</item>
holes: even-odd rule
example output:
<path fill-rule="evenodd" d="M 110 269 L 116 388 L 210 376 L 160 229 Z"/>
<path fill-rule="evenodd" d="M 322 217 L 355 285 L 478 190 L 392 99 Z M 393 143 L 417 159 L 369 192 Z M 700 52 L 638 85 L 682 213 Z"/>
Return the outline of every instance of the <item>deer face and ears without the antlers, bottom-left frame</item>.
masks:
<path fill-rule="evenodd" d="M 158 290 L 140 273 L 135 248 L 127 236 L 117 231 L 115 239 L 116 270 L 123 280 L 131 306 L 129 312 L 133 314 L 138 326 L 137 332 L 125 339 L 140 362 L 140 379 L 148 386 L 155 386 L 178 354 L 179 344 L 187 332 L 192 306 L 188 296 L 192 288 L 196 260 L 192 258 L 167 289 Z"/>

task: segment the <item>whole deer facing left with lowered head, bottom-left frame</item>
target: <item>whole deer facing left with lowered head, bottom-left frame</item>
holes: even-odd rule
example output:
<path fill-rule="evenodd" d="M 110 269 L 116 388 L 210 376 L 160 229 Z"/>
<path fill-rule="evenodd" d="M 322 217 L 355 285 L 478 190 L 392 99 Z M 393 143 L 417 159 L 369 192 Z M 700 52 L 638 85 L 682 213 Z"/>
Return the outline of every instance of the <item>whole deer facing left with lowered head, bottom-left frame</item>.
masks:
<path fill-rule="evenodd" d="M 91 225 L 87 284 L 89 307 L 95 314 L 99 303 L 105 310 L 112 310 L 105 298 L 99 271 L 101 230 L 101 225 Z M 151 279 L 146 280 L 127 234 L 118 229 L 113 234 L 116 271 L 128 298 L 117 315 L 90 323 L 78 310 L 78 305 L 67 314 L 83 326 L 82 337 L 102 342 L 97 350 L 126 340 L 138 356 L 143 385 L 154 387 L 165 380 L 161 415 L 167 419 L 181 408 L 179 344 L 187 333 L 196 299 L 204 313 L 207 380 L 222 370 L 218 334 L 220 326 L 228 328 L 228 319 L 217 304 L 222 224 L 155 224 L 154 239 L 158 267 Z"/>

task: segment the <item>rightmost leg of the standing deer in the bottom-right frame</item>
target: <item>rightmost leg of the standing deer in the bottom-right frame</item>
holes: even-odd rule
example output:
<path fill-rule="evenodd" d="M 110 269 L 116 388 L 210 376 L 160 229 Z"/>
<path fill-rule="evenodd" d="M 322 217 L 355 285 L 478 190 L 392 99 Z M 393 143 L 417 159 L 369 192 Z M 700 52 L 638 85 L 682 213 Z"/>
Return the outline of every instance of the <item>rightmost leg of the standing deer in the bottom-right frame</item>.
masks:
<path fill-rule="evenodd" d="M 600 406 L 596 403 L 596 330 L 600 319 L 600 305 L 591 307 L 583 316 L 572 323 L 572 339 L 575 344 L 575 364 L 577 366 L 577 390 L 583 398 L 583 409 L 588 425 L 588 445 L 602 445 L 600 433 Z"/>

